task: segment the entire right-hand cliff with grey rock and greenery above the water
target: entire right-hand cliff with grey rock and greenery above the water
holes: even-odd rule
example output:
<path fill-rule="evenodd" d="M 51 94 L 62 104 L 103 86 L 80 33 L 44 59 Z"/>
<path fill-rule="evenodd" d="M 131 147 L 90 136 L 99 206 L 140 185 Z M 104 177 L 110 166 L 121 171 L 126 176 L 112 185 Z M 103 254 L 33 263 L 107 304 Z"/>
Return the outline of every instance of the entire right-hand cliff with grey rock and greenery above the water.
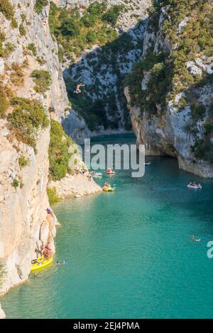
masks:
<path fill-rule="evenodd" d="M 143 57 L 126 78 L 133 130 L 146 154 L 213 177 L 212 1 L 172 2 L 155 2 Z"/>

